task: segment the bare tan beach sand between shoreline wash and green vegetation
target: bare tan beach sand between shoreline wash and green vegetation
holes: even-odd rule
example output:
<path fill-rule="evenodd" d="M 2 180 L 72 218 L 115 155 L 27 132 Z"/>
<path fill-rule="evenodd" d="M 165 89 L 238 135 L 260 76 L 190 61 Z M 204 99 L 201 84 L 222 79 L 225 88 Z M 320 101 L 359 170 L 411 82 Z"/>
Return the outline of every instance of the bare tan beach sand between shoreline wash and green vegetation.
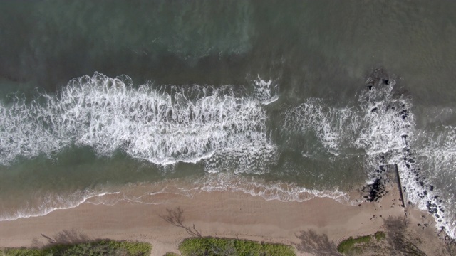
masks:
<path fill-rule="evenodd" d="M 140 240 L 153 245 L 152 255 L 178 252 L 177 245 L 189 237 L 183 228 L 166 223 L 160 214 L 166 209 L 184 210 L 184 224 L 193 225 L 202 235 L 244 238 L 292 244 L 301 230 L 313 229 L 333 241 L 348 236 L 373 234 L 388 216 L 403 216 L 397 191 L 390 191 L 380 203 L 348 206 L 331 198 L 309 201 L 265 201 L 244 193 L 202 192 L 193 198 L 165 194 L 165 203 L 147 205 L 117 203 L 114 206 L 83 203 L 35 218 L 0 222 L 0 247 L 21 247 L 46 243 L 41 234 L 54 238 L 62 230 L 76 230 L 90 238 Z M 423 223 L 418 210 L 406 208 L 412 225 Z M 373 217 L 375 215 L 375 217 Z M 381 215 L 381 217 L 380 217 Z M 432 218 L 427 217 L 427 221 Z M 423 232 L 435 233 L 432 224 Z M 305 255 L 302 252 L 298 252 Z"/>

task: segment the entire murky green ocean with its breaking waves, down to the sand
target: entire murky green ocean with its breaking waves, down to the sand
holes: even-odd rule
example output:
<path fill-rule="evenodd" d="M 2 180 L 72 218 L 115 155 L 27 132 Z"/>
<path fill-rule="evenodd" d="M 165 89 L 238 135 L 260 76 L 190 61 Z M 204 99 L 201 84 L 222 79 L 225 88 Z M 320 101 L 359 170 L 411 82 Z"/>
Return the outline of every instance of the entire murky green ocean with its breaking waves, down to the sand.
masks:
<path fill-rule="evenodd" d="M 456 235 L 456 3 L 1 1 L 0 220 L 348 193 L 398 165 Z"/>

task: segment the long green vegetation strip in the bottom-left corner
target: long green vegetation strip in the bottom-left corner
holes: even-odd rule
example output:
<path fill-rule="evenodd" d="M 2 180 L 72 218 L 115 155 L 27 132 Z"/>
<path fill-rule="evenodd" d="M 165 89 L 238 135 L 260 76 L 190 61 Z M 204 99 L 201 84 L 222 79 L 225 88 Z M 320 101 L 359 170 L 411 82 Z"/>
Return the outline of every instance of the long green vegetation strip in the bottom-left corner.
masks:
<path fill-rule="evenodd" d="M 73 256 L 73 255 L 150 255 L 152 245 L 147 242 L 95 240 L 77 244 L 58 244 L 43 249 L 8 248 L 0 250 L 1 256 Z"/>

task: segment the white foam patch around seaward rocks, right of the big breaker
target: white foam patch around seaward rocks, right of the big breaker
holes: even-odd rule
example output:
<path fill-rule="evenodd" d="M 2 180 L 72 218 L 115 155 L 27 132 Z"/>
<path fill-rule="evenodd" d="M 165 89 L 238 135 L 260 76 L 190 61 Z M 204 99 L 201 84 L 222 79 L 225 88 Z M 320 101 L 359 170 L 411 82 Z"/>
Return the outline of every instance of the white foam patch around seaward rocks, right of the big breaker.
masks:
<path fill-rule="evenodd" d="M 403 136 L 413 137 L 414 116 L 410 101 L 393 94 L 394 82 L 361 92 L 358 105 L 332 107 L 309 98 L 284 113 L 287 132 L 313 132 L 332 154 L 363 149 L 368 155 L 403 149 Z M 407 117 L 400 112 L 406 110 Z"/>

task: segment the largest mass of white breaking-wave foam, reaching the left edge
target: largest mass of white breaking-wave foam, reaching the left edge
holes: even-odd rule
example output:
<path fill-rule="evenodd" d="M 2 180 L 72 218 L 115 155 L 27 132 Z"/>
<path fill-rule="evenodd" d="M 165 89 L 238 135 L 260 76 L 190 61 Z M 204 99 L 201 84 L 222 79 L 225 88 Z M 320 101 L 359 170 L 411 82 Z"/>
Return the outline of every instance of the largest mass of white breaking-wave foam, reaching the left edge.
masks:
<path fill-rule="evenodd" d="M 274 101 L 278 87 L 260 78 L 253 86 L 249 96 L 232 86 L 133 87 L 125 75 L 86 75 L 58 95 L 0 105 L 0 164 L 17 156 L 52 157 L 76 145 L 102 156 L 121 150 L 160 165 L 214 158 L 210 171 L 239 166 L 237 171 L 263 172 L 276 150 L 261 104 Z"/>

